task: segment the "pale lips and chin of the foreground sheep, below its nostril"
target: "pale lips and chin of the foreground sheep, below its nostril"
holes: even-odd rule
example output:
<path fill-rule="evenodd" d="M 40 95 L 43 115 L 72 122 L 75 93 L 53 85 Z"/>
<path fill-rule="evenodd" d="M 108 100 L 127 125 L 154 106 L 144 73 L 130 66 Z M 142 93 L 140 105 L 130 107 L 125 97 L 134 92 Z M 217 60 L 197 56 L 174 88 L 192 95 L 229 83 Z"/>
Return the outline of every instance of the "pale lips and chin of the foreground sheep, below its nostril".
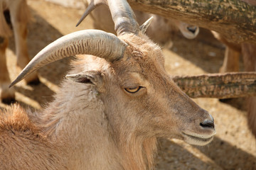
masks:
<path fill-rule="evenodd" d="M 210 143 L 213 140 L 213 136 L 198 137 L 198 136 L 194 136 L 194 135 L 188 135 L 184 132 L 182 132 L 182 135 L 184 137 L 185 142 L 187 142 L 191 145 L 203 146 L 203 145 L 207 145 L 208 143 Z"/>

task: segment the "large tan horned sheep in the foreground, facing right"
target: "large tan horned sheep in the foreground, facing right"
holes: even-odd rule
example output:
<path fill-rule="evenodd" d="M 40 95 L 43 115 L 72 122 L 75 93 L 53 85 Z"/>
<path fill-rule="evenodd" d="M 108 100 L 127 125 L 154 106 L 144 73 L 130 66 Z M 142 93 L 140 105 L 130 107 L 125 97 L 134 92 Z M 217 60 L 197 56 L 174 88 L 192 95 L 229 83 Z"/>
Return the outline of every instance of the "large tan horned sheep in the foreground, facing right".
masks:
<path fill-rule="evenodd" d="M 107 4 L 117 36 L 102 30 L 65 35 L 11 84 L 78 55 L 41 113 L 16 106 L 1 114 L 0 169 L 152 169 L 159 137 L 192 145 L 213 140 L 213 117 L 166 73 L 161 48 L 144 35 L 149 22 L 139 27 L 127 1 Z"/>

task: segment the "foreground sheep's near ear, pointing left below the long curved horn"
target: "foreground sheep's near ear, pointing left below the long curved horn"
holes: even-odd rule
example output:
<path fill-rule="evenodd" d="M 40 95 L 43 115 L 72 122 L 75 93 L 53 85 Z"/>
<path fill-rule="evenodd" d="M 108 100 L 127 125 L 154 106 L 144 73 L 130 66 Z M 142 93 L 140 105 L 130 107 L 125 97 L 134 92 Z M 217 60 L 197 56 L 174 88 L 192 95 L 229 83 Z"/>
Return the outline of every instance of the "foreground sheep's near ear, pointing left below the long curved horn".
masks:
<path fill-rule="evenodd" d="M 87 71 L 80 72 L 78 74 L 68 74 L 65 77 L 78 83 L 93 84 L 95 86 L 100 86 L 103 82 L 102 73 L 99 71 Z"/>

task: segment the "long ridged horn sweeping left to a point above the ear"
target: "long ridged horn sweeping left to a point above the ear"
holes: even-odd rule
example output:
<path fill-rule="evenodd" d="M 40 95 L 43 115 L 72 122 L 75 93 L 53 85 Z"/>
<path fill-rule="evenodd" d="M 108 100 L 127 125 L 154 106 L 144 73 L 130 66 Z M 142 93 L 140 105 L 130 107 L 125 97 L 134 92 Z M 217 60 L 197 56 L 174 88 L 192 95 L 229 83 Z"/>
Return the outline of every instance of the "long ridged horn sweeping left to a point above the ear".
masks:
<path fill-rule="evenodd" d="M 73 55 L 95 55 L 105 58 L 109 62 L 119 60 L 122 58 L 126 46 L 127 43 L 119 40 L 116 35 L 102 30 L 80 30 L 70 33 L 38 52 L 11 83 L 10 87 L 36 69 Z"/>

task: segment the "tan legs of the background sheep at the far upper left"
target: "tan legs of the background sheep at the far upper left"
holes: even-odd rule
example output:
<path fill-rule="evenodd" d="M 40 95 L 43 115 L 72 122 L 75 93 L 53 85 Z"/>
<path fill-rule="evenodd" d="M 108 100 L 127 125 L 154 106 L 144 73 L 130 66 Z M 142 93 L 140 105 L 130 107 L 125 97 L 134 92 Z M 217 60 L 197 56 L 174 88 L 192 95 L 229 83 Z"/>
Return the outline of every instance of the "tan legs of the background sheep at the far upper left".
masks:
<path fill-rule="evenodd" d="M 17 62 L 16 67 L 23 69 L 30 61 L 26 44 L 27 23 L 30 13 L 26 0 L 0 0 L 0 100 L 14 98 L 14 89 L 6 66 L 6 47 L 11 36 L 11 24 L 14 30 Z M 38 81 L 36 72 L 26 77 L 26 82 Z"/>

